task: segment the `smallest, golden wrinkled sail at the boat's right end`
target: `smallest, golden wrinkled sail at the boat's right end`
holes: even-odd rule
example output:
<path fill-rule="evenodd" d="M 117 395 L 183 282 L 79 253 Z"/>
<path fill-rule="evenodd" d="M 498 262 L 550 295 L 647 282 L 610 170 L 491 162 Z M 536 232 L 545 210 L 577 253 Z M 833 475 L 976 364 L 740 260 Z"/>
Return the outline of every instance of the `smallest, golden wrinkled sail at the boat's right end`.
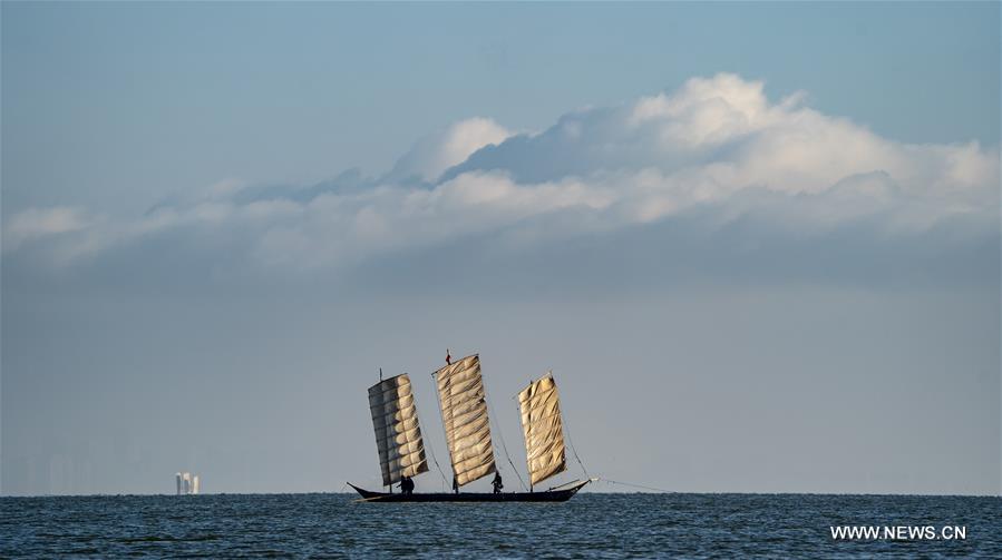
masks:
<path fill-rule="evenodd" d="M 525 459 L 533 484 L 567 470 L 561 402 L 552 375 L 529 383 L 518 393 Z"/>

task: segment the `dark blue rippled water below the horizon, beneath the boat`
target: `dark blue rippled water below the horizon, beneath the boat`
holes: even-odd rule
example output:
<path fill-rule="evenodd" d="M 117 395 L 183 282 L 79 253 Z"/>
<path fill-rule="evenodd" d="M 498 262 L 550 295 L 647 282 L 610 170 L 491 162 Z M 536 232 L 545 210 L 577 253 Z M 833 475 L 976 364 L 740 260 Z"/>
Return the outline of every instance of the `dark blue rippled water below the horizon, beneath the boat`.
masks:
<path fill-rule="evenodd" d="M 600 494 L 561 504 L 349 494 L 0 499 L 0 557 L 1002 558 L 1002 499 Z M 830 525 L 964 525 L 966 540 L 834 541 Z"/>

